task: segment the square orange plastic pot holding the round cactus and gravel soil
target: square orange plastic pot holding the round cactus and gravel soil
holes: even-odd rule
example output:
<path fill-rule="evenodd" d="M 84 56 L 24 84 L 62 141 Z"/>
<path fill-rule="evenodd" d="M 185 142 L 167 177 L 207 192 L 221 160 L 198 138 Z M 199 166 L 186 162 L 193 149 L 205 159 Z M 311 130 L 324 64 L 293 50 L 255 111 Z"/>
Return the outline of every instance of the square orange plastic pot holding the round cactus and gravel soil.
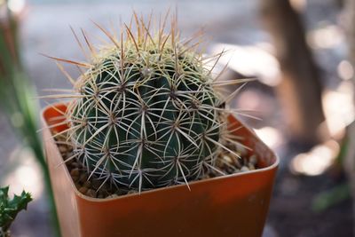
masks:
<path fill-rule="evenodd" d="M 54 108 L 55 107 L 55 108 Z M 43 127 L 59 121 L 64 104 L 43 110 Z M 233 127 L 241 126 L 233 116 Z M 54 130 L 64 130 L 58 126 Z M 253 149 L 262 169 L 113 199 L 84 196 L 75 188 L 51 130 L 43 130 L 45 153 L 61 233 L 76 236 L 261 236 L 278 158 L 244 126 L 236 135 Z"/>

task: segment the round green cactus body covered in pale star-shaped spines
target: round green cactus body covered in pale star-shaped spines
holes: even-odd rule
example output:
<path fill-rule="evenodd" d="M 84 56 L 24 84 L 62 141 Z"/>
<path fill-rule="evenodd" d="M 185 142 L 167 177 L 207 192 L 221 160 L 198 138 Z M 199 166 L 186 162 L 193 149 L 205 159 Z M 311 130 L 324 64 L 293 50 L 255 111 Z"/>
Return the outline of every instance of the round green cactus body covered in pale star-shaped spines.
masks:
<path fill-rule="evenodd" d="M 201 54 L 142 32 L 128 29 L 92 56 L 67 109 L 69 138 L 91 176 L 139 191 L 200 178 L 223 126 Z"/>

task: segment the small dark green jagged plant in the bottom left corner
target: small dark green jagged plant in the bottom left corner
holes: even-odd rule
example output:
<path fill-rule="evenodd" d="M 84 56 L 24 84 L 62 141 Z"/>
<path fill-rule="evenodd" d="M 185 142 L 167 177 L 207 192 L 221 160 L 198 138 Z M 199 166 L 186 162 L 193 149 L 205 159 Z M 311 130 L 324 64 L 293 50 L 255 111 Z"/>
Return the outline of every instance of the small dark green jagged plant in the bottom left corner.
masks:
<path fill-rule="evenodd" d="M 0 188 L 0 237 L 10 236 L 10 225 L 22 209 L 27 209 L 31 195 L 23 191 L 20 196 L 14 195 L 9 199 L 9 187 Z"/>

